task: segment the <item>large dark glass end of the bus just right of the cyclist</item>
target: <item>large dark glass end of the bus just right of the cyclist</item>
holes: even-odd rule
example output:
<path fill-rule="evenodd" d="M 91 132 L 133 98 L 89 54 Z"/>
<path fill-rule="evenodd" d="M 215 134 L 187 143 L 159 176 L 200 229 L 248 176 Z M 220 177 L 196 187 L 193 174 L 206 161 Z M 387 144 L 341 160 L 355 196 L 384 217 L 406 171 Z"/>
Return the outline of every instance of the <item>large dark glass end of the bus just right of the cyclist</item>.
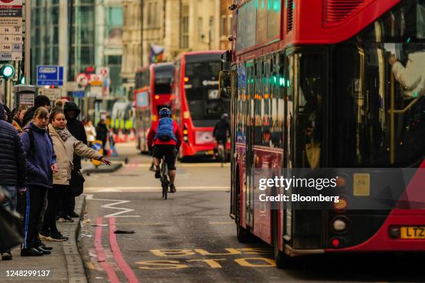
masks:
<path fill-rule="evenodd" d="M 228 100 L 220 98 L 218 92 L 220 68 L 219 53 L 186 58 L 185 93 L 195 126 L 213 126 L 214 121 L 229 111 Z"/>

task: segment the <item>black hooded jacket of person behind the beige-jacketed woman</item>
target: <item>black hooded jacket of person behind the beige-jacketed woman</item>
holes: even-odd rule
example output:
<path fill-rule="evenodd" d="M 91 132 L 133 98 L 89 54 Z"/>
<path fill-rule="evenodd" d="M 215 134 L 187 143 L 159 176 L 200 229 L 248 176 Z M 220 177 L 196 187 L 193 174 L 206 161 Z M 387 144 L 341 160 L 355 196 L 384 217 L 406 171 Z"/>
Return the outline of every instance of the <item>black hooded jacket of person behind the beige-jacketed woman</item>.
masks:
<path fill-rule="evenodd" d="M 73 110 L 75 112 L 74 118 L 69 118 L 67 115 L 67 112 Z M 69 101 L 65 103 L 63 107 L 63 112 L 65 112 L 65 117 L 67 118 L 67 128 L 69 132 L 71 132 L 71 135 L 73 135 L 78 141 L 83 141 L 83 144 L 87 144 L 87 135 L 85 135 L 85 129 L 83 122 L 76 119 L 78 115 L 81 113 L 80 108 L 72 102 Z M 74 169 L 80 170 L 81 169 L 81 157 L 74 154 Z"/>

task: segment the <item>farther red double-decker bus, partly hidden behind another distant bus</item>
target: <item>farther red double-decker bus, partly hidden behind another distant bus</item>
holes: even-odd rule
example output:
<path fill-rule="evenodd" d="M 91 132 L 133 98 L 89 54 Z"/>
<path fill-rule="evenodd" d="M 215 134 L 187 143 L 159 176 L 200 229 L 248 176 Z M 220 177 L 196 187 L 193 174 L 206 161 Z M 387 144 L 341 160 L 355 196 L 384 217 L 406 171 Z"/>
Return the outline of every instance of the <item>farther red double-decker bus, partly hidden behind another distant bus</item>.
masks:
<path fill-rule="evenodd" d="M 136 145 L 142 152 L 148 151 L 147 135 L 151 123 L 158 120 L 158 111 L 164 106 L 171 107 L 173 76 L 172 63 L 152 64 L 136 73 Z"/>

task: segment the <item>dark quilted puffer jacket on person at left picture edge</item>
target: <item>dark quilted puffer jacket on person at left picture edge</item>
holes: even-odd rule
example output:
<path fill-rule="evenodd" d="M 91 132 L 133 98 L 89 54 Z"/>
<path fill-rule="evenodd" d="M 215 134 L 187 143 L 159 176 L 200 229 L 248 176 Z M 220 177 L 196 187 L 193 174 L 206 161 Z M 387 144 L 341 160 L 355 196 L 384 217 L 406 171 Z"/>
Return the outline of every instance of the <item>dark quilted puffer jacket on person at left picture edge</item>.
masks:
<path fill-rule="evenodd" d="M 0 102 L 0 185 L 23 187 L 26 184 L 26 157 L 17 130 L 5 121 Z"/>

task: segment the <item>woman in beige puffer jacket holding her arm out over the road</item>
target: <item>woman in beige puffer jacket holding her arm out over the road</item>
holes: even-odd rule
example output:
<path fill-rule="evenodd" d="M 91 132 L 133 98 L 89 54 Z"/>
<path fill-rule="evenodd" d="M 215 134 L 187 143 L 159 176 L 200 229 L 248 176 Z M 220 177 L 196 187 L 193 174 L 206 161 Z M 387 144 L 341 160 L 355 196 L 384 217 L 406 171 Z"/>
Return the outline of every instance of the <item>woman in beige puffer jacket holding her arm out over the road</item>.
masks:
<path fill-rule="evenodd" d="M 87 157 L 99 160 L 103 164 L 110 165 L 110 162 L 103 156 L 89 148 L 82 141 L 78 141 L 69 133 L 66 128 L 67 120 L 62 108 L 53 108 L 50 113 L 49 133 L 53 141 L 53 148 L 56 153 L 56 162 L 59 169 L 53 173 L 53 188 L 47 191 L 47 210 L 44 216 L 40 239 L 49 241 L 67 241 L 67 237 L 56 228 L 56 209 L 63 196 L 63 192 L 68 189 L 69 180 L 71 179 L 72 160 L 74 153 L 81 157 Z"/>

